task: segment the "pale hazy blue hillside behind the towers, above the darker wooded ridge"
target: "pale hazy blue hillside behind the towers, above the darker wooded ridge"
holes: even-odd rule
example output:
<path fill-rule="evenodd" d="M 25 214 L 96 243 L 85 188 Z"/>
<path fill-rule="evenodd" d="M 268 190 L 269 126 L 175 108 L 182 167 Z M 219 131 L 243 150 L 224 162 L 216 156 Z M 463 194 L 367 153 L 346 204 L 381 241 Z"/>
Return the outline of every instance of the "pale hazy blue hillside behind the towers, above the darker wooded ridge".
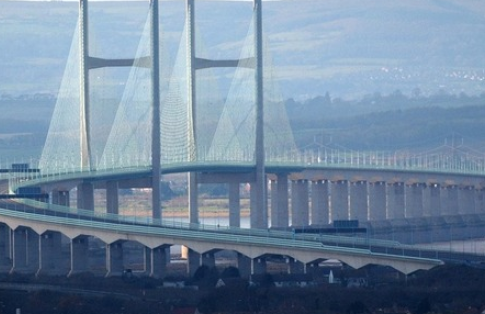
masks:
<path fill-rule="evenodd" d="M 196 1 L 200 54 L 238 57 L 250 2 Z M 91 2 L 93 54 L 131 57 L 148 3 Z M 77 2 L 0 1 L 0 95 L 56 93 Z M 485 3 L 480 0 L 266 1 L 264 31 L 284 98 L 330 92 L 356 98 L 401 90 L 485 90 Z M 175 53 L 183 1 L 162 1 L 161 30 Z M 204 48 L 204 49 L 202 49 Z M 224 83 L 223 83 L 224 85 Z"/>

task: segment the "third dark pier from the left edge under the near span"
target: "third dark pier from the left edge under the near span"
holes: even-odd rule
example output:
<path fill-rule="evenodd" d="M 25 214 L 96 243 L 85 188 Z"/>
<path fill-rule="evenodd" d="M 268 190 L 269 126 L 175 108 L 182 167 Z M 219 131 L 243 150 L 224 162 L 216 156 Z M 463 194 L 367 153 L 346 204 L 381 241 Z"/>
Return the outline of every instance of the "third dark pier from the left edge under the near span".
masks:
<path fill-rule="evenodd" d="M 67 264 L 62 259 L 62 235 L 60 232 L 47 231 L 39 238 L 39 269 L 37 275 L 66 275 Z"/>

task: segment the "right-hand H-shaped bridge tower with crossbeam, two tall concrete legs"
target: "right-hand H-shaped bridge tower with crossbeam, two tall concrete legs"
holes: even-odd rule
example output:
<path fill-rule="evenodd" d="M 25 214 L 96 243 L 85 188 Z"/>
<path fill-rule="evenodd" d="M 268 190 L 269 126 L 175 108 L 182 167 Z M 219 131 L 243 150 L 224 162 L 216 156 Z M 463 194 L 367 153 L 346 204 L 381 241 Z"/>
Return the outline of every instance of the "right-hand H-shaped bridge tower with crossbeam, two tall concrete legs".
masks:
<path fill-rule="evenodd" d="M 198 58 L 195 46 L 195 0 L 186 2 L 186 26 L 187 26 L 187 68 L 189 77 L 187 79 L 187 94 L 189 101 L 189 114 L 192 119 L 192 129 L 189 132 L 189 139 L 192 143 L 197 142 L 196 134 L 196 71 L 216 67 L 237 67 L 240 64 L 248 64 L 254 69 L 256 102 L 256 141 L 255 141 L 255 180 L 251 182 L 251 227 L 266 228 L 268 226 L 267 200 L 266 200 L 266 171 L 264 154 L 264 131 L 263 131 L 263 31 L 262 31 L 262 0 L 253 0 L 254 14 L 254 55 L 248 60 L 210 60 Z M 249 61 L 249 62 L 241 62 Z M 196 146 L 194 146 L 196 147 Z M 197 159 L 197 151 L 191 152 L 191 160 Z M 197 173 L 189 173 L 189 215 L 190 222 L 198 222 L 197 208 Z"/>

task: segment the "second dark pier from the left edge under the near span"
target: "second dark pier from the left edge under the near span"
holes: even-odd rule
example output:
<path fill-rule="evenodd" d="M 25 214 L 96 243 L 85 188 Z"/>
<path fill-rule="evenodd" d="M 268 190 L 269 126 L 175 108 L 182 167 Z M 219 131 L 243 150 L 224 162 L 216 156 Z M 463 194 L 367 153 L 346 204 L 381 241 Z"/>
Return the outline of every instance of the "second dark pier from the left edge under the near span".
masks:
<path fill-rule="evenodd" d="M 19 227 L 13 232 L 13 263 L 11 272 L 35 273 L 39 269 L 39 235 Z"/>

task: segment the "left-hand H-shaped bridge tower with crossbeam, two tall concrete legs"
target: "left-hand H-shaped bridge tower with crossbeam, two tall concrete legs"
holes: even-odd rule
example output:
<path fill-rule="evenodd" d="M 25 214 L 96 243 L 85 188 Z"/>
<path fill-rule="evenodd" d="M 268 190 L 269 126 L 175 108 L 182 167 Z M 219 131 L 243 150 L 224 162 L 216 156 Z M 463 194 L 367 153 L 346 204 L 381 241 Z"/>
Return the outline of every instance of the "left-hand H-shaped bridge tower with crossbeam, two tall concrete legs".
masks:
<path fill-rule="evenodd" d="M 102 67 L 139 66 L 151 69 L 152 77 L 152 206 L 153 218 L 160 218 L 160 66 L 158 0 L 150 0 L 150 56 L 139 59 L 102 59 L 89 55 L 88 0 L 79 0 L 80 134 L 81 168 L 94 170 L 91 155 L 89 70 Z"/>

